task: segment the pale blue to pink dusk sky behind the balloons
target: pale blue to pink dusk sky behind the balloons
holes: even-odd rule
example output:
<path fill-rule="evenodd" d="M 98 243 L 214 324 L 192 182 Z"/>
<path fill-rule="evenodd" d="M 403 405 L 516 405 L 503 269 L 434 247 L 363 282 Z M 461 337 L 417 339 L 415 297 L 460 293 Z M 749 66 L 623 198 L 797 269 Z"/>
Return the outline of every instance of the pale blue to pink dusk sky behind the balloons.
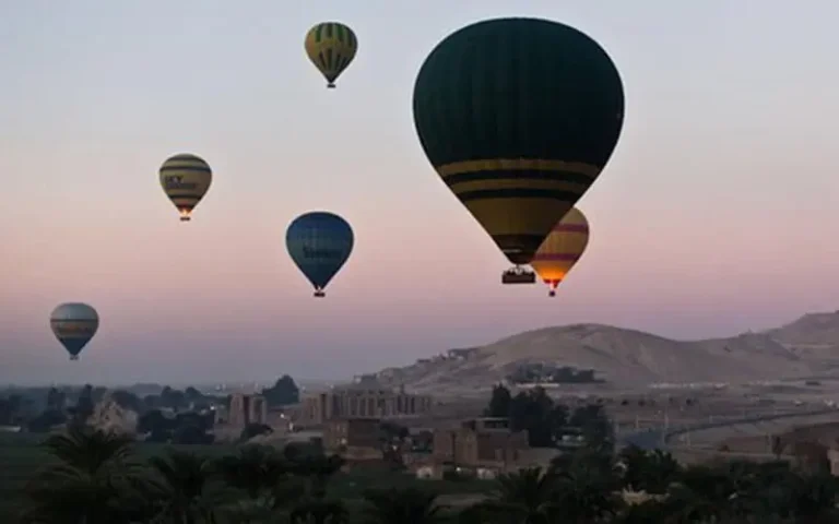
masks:
<path fill-rule="evenodd" d="M 0 2 L 0 381 L 346 378 L 519 331 L 602 322 L 731 335 L 839 308 L 839 2 Z M 805 9 L 806 8 L 806 9 Z M 413 128 L 423 59 L 469 23 L 547 17 L 600 41 L 624 132 L 580 202 L 592 238 L 556 299 L 508 266 Z M 315 23 L 359 38 L 327 91 Z M 169 155 L 215 178 L 190 224 Z M 343 215 L 326 300 L 287 224 Z M 86 301 L 79 362 L 48 314 Z"/>

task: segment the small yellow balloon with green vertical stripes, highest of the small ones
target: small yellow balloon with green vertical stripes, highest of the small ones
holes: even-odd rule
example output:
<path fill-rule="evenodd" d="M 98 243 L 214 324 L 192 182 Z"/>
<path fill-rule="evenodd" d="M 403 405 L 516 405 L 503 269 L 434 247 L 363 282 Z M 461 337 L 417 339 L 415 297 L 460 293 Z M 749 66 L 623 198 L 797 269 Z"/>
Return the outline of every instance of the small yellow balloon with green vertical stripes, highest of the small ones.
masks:
<path fill-rule="evenodd" d="M 306 34 L 306 55 L 333 88 L 335 80 L 350 66 L 358 50 L 353 29 L 339 22 L 323 22 Z"/>

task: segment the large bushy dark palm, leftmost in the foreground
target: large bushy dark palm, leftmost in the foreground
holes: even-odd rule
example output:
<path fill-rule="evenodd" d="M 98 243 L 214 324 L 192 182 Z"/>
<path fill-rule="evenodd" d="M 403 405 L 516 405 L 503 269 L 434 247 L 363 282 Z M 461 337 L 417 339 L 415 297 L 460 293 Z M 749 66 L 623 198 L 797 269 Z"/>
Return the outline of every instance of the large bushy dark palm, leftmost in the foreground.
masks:
<path fill-rule="evenodd" d="M 149 484 L 129 461 L 131 439 L 74 426 L 44 445 L 59 462 L 27 483 L 22 522 L 121 524 L 152 516 Z"/>

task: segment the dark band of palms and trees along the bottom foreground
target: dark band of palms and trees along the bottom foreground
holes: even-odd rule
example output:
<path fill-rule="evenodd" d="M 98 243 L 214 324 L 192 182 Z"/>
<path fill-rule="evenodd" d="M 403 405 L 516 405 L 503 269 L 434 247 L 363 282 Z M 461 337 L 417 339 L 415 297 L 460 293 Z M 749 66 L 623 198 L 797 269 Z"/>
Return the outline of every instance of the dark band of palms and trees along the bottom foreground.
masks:
<path fill-rule="evenodd" d="M 599 444 L 558 456 L 544 469 L 484 481 L 482 497 L 444 500 L 435 490 L 439 483 L 407 474 L 410 483 L 401 486 L 342 495 L 333 488 L 343 461 L 306 448 L 250 444 L 226 456 L 173 450 L 140 460 L 130 440 L 85 427 L 43 445 L 55 460 L 23 487 L 21 523 L 839 522 L 839 483 L 819 464 L 684 468 L 666 453 L 628 448 L 615 454 Z M 626 490 L 646 491 L 648 500 L 628 503 Z"/>

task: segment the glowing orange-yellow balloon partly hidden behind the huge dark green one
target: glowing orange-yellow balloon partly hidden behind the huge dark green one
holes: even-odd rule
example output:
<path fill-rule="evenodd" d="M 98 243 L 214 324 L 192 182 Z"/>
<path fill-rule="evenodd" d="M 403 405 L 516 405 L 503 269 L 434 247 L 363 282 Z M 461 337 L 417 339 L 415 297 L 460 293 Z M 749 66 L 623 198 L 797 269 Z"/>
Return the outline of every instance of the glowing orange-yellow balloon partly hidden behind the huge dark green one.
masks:
<path fill-rule="evenodd" d="M 548 296 L 556 296 L 556 286 L 580 260 L 589 245 L 589 221 L 577 207 L 566 213 L 539 247 L 530 265 L 551 286 Z"/>

